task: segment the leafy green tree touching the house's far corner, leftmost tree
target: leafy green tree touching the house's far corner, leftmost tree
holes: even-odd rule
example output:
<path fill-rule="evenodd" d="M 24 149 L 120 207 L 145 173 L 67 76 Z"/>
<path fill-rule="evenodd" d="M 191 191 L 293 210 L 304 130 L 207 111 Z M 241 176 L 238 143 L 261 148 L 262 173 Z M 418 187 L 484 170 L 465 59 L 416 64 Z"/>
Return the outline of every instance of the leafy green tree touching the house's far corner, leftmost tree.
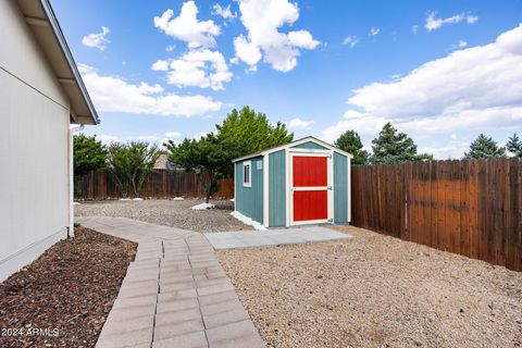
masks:
<path fill-rule="evenodd" d="M 91 171 L 105 166 L 107 150 L 96 135 L 78 134 L 73 137 L 74 188 L 79 194 L 80 179 Z"/>

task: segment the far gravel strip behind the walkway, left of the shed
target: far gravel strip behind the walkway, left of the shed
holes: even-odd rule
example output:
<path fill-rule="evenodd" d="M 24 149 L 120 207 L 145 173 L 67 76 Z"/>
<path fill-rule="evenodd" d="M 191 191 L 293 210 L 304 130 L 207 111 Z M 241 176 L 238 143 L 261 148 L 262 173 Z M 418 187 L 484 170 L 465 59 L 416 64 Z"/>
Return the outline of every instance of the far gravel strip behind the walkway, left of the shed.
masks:
<path fill-rule="evenodd" d="M 83 202 L 75 206 L 76 216 L 122 216 L 145 221 L 158 225 L 166 225 L 196 232 L 223 232 L 252 229 L 243 222 L 231 216 L 234 203 L 229 200 L 211 201 L 212 210 L 192 210 L 190 207 L 203 200 L 142 200 L 120 201 L 104 200 Z"/>

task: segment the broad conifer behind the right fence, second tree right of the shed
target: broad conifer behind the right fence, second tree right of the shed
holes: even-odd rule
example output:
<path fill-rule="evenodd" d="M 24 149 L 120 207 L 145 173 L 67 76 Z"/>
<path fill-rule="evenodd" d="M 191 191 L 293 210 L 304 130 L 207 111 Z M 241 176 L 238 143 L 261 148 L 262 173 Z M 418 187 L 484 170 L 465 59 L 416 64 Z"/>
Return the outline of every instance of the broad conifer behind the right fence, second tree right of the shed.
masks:
<path fill-rule="evenodd" d="M 372 140 L 373 154 L 370 161 L 373 164 L 401 163 L 407 161 L 420 161 L 433 159 L 428 153 L 417 153 L 417 145 L 406 133 L 398 133 L 391 123 L 386 123 Z"/>

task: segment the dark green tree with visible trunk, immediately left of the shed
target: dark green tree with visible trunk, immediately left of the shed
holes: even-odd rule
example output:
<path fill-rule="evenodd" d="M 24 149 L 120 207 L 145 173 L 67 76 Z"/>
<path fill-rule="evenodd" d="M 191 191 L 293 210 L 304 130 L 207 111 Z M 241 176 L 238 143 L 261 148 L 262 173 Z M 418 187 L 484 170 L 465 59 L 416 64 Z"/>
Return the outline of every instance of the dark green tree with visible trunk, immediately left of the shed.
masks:
<path fill-rule="evenodd" d="M 233 142 L 222 141 L 212 133 L 199 140 L 185 138 L 179 145 L 169 140 L 165 147 L 170 161 L 198 174 L 207 203 L 219 189 L 217 181 L 233 173 L 231 159 L 237 149 Z"/>

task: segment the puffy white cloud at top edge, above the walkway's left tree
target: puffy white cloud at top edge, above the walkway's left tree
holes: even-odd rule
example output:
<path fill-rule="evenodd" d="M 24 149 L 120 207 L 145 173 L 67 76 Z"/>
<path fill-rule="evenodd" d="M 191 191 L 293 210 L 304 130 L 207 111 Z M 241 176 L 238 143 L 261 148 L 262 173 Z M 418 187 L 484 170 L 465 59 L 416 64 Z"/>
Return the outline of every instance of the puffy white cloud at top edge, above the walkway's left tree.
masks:
<path fill-rule="evenodd" d="M 182 11 L 174 17 L 174 11 L 166 10 L 154 16 L 154 26 L 166 35 L 188 44 L 189 48 L 213 47 L 221 29 L 213 21 L 198 21 L 198 8 L 194 1 L 186 1 Z"/>

